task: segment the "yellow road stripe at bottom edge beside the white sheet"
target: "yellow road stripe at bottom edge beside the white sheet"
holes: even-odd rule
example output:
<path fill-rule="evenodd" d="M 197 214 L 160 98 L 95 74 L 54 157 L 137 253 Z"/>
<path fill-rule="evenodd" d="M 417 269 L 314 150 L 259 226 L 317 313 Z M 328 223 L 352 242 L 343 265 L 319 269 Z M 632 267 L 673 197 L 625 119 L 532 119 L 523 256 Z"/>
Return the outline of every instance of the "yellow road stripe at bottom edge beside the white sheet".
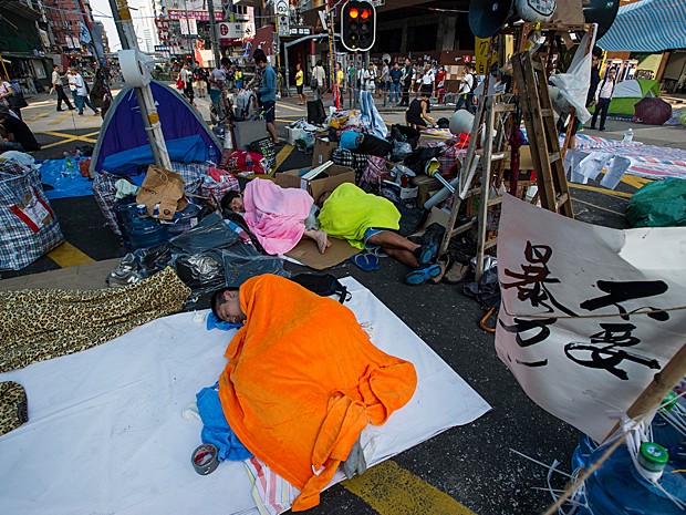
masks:
<path fill-rule="evenodd" d="M 475 515 L 449 495 L 391 460 L 341 484 L 380 515 Z"/>

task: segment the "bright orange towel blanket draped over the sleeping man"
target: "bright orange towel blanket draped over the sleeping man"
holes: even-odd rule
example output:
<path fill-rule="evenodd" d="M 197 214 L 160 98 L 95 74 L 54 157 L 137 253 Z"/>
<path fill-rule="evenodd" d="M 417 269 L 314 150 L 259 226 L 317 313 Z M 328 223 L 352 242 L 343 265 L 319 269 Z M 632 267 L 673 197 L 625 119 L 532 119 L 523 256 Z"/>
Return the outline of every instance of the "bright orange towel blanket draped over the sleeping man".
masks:
<path fill-rule="evenodd" d="M 367 423 L 409 401 L 415 368 L 374 347 L 346 307 L 282 277 L 247 280 L 240 305 L 248 320 L 226 351 L 224 412 L 240 441 L 301 490 L 293 511 L 309 509 Z"/>

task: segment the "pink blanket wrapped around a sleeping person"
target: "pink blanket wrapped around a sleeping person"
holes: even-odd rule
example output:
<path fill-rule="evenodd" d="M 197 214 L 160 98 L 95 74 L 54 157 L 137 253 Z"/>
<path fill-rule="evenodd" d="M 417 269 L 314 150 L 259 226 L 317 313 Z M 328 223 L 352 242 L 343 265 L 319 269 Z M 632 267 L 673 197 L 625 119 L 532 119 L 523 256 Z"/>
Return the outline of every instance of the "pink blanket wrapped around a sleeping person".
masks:
<path fill-rule="evenodd" d="M 246 223 L 267 253 L 282 255 L 298 245 L 314 204 L 308 192 L 256 178 L 246 186 L 243 197 Z"/>

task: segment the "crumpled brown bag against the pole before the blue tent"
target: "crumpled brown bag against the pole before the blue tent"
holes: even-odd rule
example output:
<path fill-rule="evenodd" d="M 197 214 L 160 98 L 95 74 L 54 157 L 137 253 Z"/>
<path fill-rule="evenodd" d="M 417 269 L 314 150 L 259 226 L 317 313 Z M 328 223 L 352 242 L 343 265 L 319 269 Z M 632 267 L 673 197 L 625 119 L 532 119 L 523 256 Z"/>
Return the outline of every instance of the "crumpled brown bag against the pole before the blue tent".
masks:
<path fill-rule="evenodd" d="M 184 195 L 184 179 L 177 173 L 150 165 L 136 195 L 136 202 L 145 204 L 149 216 L 170 220 L 176 212 L 183 210 L 188 205 L 188 199 Z M 155 216 L 157 205 L 159 205 L 158 215 Z"/>

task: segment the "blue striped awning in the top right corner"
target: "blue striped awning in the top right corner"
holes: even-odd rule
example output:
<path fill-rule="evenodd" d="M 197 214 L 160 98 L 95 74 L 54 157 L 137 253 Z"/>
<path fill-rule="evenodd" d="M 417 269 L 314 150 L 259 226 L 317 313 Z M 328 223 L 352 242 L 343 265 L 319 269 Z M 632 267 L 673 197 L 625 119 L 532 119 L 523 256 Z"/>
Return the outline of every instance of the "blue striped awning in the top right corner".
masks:
<path fill-rule="evenodd" d="M 643 0 L 620 7 L 599 41 L 604 50 L 662 52 L 686 47 L 686 0 Z"/>

